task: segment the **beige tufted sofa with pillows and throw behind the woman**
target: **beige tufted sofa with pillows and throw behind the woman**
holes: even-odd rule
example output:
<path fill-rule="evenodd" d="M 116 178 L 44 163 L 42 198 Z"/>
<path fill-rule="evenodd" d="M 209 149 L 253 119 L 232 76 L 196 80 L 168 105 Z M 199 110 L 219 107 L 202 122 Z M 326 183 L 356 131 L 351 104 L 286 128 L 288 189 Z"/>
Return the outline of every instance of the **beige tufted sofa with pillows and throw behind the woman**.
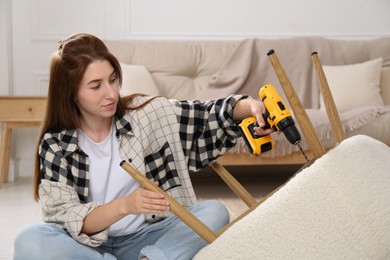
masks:
<path fill-rule="evenodd" d="M 270 83 L 287 103 L 267 57 L 274 49 L 321 142 L 329 149 L 335 142 L 311 62 L 312 52 L 317 51 L 347 135 L 365 134 L 390 145 L 390 38 L 105 42 L 122 63 L 123 94 L 207 100 L 244 93 L 258 98 L 259 88 Z M 250 155 L 240 140 L 219 160 L 225 165 L 305 162 L 283 135 L 273 134 L 273 138 L 275 148 L 261 156 Z"/>

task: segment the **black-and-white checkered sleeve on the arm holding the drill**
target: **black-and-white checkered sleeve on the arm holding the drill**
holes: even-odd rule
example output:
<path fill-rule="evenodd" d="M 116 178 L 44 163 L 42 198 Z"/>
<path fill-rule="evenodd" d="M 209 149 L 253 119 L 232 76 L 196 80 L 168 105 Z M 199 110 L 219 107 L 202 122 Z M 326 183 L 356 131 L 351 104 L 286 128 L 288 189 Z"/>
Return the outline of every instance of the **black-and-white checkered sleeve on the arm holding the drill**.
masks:
<path fill-rule="evenodd" d="M 237 143 L 238 126 L 233 121 L 233 109 L 244 95 L 206 102 L 176 101 L 180 139 L 190 170 L 199 170 Z"/>

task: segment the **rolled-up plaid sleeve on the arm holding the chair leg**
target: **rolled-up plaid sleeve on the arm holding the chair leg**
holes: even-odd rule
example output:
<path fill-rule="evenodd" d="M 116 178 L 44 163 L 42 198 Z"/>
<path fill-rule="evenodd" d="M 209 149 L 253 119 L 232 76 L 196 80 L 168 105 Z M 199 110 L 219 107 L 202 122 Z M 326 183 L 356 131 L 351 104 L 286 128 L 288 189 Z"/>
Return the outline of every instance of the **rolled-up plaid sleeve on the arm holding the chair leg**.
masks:
<path fill-rule="evenodd" d="M 69 137 L 71 136 L 65 139 Z M 68 145 L 70 143 L 72 142 Z M 99 246 L 107 240 L 107 230 L 92 236 L 81 233 L 85 217 L 99 204 L 81 202 L 80 197 L 84 196 L 78 192 L 81 188 L 77 188 L 79 181 L 76 180 L 82 179 L 77 175 L 80 171 L 72 174 L 75 167 L 68 162 L 66 152 L 61 149 L 61 144 L 63 143 L 58 138 L 53 137 L 52 134 L 46 134 L 39 147 L 41 172 L 39 203 L 43 220 L 62 225 L 80 243 L 93 247 Z M 74 157 L 69 158 L 75 160 Z"/>

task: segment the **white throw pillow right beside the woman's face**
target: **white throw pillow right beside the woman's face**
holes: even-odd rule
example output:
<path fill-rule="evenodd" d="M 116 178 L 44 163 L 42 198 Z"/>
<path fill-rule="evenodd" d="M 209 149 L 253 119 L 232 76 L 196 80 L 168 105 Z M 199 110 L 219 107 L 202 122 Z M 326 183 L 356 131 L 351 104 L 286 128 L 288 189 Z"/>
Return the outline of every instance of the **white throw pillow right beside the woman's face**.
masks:
<path fill-rule="evenodd" d="M 143 65 L 120 63 L 122 68 L 121 95 L 142 93 L 150 96 L 158 96 L 159 91 L 152 75 Z"/>

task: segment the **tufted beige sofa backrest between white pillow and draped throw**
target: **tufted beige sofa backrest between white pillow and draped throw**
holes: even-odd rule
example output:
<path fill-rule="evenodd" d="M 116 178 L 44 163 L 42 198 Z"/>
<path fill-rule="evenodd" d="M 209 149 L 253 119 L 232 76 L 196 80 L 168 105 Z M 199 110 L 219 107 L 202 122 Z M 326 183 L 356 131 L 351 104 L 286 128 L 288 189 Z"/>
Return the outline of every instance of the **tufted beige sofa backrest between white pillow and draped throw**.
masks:
<path fill-rule="evenodd" d="M 236 90 L 210 88 L 212 75 L 229 58 L 238 41 L 105 41 L 120 62 L 144 65 L 159 94 L 176 99 L 208 100 Z"/>

